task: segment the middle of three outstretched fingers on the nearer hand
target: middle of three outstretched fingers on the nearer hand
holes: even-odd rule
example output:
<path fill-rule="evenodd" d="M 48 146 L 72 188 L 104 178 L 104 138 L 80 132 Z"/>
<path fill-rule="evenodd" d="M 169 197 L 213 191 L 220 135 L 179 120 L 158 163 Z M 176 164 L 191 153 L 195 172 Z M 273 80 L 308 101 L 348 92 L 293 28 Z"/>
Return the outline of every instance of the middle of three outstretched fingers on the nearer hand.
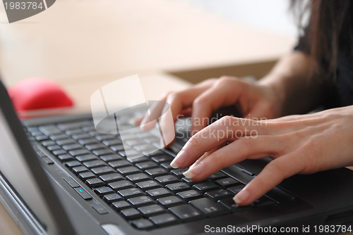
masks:
<path fill-rule="evenodd" d="M 281 142 L 276 136 L 257 136 L 256 139 L 242 137 L 208 155 L 198 165 L 192 165 L 184 174 L 200 181 L 242 160 L 277 155 L 282 152 Z"/>

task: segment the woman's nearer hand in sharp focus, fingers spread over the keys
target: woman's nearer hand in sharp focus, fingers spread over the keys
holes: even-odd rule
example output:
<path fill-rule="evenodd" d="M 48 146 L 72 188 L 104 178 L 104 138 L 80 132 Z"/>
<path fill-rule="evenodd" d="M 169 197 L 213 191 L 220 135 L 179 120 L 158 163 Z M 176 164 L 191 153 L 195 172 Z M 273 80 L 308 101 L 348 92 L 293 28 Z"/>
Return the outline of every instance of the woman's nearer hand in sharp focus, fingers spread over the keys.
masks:
<path fill-rule="evenodd" d="M 171 165 L 191 166 L 184 175 L 199 181 L 266 156 L 274 160 L 234 196 L 238 205 L 249 205 L 293 174 L 353 165 L 353 106 L 261 121 L 227 116 L 193 135 Z"/>

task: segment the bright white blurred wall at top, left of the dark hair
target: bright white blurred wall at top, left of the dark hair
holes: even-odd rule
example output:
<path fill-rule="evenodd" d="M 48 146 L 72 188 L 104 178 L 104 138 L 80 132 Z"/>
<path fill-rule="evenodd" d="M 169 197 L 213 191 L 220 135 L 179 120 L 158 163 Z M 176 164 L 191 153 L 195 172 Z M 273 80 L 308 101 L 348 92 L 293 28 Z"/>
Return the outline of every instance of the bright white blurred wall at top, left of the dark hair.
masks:
<path fill-rule="evenodd" d="M 227 20 L 297 37 L 289 0 L 188 0 Z"/>

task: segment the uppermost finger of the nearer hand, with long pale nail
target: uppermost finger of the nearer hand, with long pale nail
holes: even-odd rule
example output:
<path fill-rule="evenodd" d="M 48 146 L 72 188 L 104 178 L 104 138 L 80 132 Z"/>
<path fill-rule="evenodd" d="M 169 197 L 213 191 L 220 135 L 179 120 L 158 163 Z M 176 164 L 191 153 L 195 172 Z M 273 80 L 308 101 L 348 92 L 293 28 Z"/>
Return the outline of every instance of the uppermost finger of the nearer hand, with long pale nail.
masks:
<path fill-rule="evenodd" d="M 177 157 L 174 158 L 171 165 L 179 168 L 189 167 L 203 153 L 226 141 L 234 141 L 242 136 L 268 134 L 270 125 L 261 126 L 257 123 L 258 121 L 255 120 L 230 116 L 223 117 L 192 136 Z"/>

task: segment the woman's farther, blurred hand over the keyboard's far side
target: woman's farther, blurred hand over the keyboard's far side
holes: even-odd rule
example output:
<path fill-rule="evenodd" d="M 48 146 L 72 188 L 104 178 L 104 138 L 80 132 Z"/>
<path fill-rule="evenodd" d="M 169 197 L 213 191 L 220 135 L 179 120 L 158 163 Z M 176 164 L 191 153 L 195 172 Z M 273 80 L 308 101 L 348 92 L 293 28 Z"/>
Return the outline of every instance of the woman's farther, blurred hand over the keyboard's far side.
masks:
<path fill-rule="evenodd" d="M 191 134 L 205 128 L 213 111 L 225 106 L 237 106 L 244 118 L 277 118 L 281 113 L 275 89 L 236 77 L 205 80 L 189 89 L 169 92 L 162 101 L 169 103 L 174 122 L 180 114 L 191 115 Z M 136 125 L 145 125 L 153 120 L 151 117 L 158 117 L 161 110 L 162 108 L 155 108 L 150 117 L 136 120 Z M 168 126 L 169 123 L 161 120 L 161 125 Z M 169 129 L 174 132 L 174 127 Z"/>

